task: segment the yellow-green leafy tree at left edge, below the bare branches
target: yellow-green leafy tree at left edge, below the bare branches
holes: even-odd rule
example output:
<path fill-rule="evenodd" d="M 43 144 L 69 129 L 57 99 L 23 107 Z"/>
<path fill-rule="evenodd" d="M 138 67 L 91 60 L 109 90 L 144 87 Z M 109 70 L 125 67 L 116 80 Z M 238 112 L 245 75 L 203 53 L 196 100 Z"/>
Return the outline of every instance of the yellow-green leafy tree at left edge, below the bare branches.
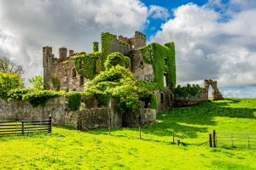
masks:
<path fill-rule="evenodd" d="M 20 74 L 0 73 L 0 98 L 7 100 L 11 89 L 24 88 L 24 79 Z"/>

